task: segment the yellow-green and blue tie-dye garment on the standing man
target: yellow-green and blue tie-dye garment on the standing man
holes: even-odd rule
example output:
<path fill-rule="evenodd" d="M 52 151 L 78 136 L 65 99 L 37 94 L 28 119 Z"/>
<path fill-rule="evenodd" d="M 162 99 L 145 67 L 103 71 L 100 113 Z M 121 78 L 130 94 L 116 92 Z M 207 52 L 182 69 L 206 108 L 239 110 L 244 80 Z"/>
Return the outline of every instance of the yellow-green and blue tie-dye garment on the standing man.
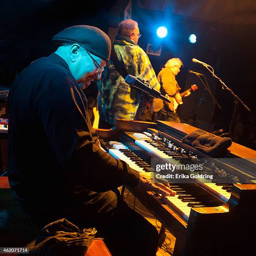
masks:
<path fill-rule="evenodd" d="M 141 47 L 128 41 L 114 41 L 115 52 L 128 74 L 148 80 L 156 90 L 160 84 L 148 59 Z M 98 108 L 100 119 L 115 125 L 115 119 L 134 120 L 140 101 L 140 92 L 130 88 L 123 77 L 110 61 L 102 72 L 102 78 L 97 81 L 100 91 Z"/>

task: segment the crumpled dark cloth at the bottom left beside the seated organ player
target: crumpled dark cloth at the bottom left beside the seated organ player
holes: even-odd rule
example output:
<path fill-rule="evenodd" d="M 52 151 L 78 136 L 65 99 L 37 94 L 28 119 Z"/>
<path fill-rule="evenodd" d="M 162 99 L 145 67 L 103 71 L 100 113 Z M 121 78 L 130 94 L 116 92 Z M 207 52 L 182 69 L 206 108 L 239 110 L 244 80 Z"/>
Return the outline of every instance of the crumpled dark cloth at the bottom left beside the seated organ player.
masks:
<path fill-rule="evenodd" d="M 30 255 L 84 256 L 96 234 L 95 228 L 79 231 L 66 219 L 56 220 L 46 225 L 40 236 L 27 245 Z"/>

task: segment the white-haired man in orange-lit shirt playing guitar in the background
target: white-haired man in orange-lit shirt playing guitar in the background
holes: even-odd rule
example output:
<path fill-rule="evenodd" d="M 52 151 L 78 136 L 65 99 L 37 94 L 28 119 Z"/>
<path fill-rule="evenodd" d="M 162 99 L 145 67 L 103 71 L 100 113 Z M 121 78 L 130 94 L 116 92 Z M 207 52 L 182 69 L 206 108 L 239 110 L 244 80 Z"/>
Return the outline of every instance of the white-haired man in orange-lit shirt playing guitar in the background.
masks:
<path fill-rule="evenodd" d="M 176 105 L 182 104 L 182 97 L 187 97 L 191 94 L 189 90 L 185 91 L 182 95 L 179 94 L 181 88 L 175 76 L 179 73 L 182 66 L 183 63 L 179 58 L 172 58 L 166 62 L 164 68 L 159 72 L 157 80 L 161 85 L 160 92 L 162 95 L 168 96 L 172 103 L 165 104 L 162 100 L 154 99 L 154 121 L 164 120 L 180 123 L 175 111 L 177 108 Z"/>

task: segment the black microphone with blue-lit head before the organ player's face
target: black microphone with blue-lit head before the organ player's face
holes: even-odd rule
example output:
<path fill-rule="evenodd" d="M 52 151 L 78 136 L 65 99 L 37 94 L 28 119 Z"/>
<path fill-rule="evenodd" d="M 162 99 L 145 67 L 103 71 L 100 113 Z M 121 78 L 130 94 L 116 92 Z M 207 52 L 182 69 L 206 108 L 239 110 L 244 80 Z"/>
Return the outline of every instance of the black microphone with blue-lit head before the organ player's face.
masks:
<path fill-rule="evenodd" d="M 155 90 L 153 87 L 146 85 L 144 82 L 141 82 L 138 78 L 128 75 L 125 77 L 125 82 L 130 85 L 130 87 L 135 87 L 143 92 L 146 92 L 148 95 L 154 98 L 164 100 L 165 102 L 171 103 L 166 97 L 161 95 L 161 93 Z"/>

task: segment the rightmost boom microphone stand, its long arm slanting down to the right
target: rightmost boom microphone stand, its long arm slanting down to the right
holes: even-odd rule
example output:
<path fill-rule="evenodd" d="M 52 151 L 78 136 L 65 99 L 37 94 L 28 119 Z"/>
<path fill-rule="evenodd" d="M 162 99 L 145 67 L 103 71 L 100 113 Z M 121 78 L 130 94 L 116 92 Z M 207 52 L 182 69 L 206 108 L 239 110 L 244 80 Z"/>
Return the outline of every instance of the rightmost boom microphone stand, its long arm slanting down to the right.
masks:
<path fill-rule="evenodd" d="M 222 84 L 222 89 L 223 90 L 228 90 L 228 92 L 234 97 L 234 110 L 233 110 L 233 114 L 232 114 L 232 118 L 231 118 L 231 121 L 230 121 L 230 126 L 229 126 L 229 135 L 230 135 L 230 138 L 232 138 L 232 133 L 231 133 L 231 130 L 233 129 L 233 124 L 234 124 L 234 121 L 235 121 L 235 117 L 236 117 L 236 113 L 237 113 L 237 110 L 238 110 L 238 102 L 243 106 L 243 108 L 245 108 L 247 111 L 251 111 L 244 103 L 243 101 L 237 96 L 235 95 L 235 93 L 227 87 L 227 85 L 219 78 L 217 77 L 215 74 L 214 74 L 214 69 L 213 67 L 211 67 L 210 65 L 208 64 L 202 64 L 203 67 L 205 67 L 207 70 L 210 71 L 210 73 L 212 74 L 213 77 L 217 78 L 220 83 Z M 210 70 L 209 67 L 212 69 Z"/>

